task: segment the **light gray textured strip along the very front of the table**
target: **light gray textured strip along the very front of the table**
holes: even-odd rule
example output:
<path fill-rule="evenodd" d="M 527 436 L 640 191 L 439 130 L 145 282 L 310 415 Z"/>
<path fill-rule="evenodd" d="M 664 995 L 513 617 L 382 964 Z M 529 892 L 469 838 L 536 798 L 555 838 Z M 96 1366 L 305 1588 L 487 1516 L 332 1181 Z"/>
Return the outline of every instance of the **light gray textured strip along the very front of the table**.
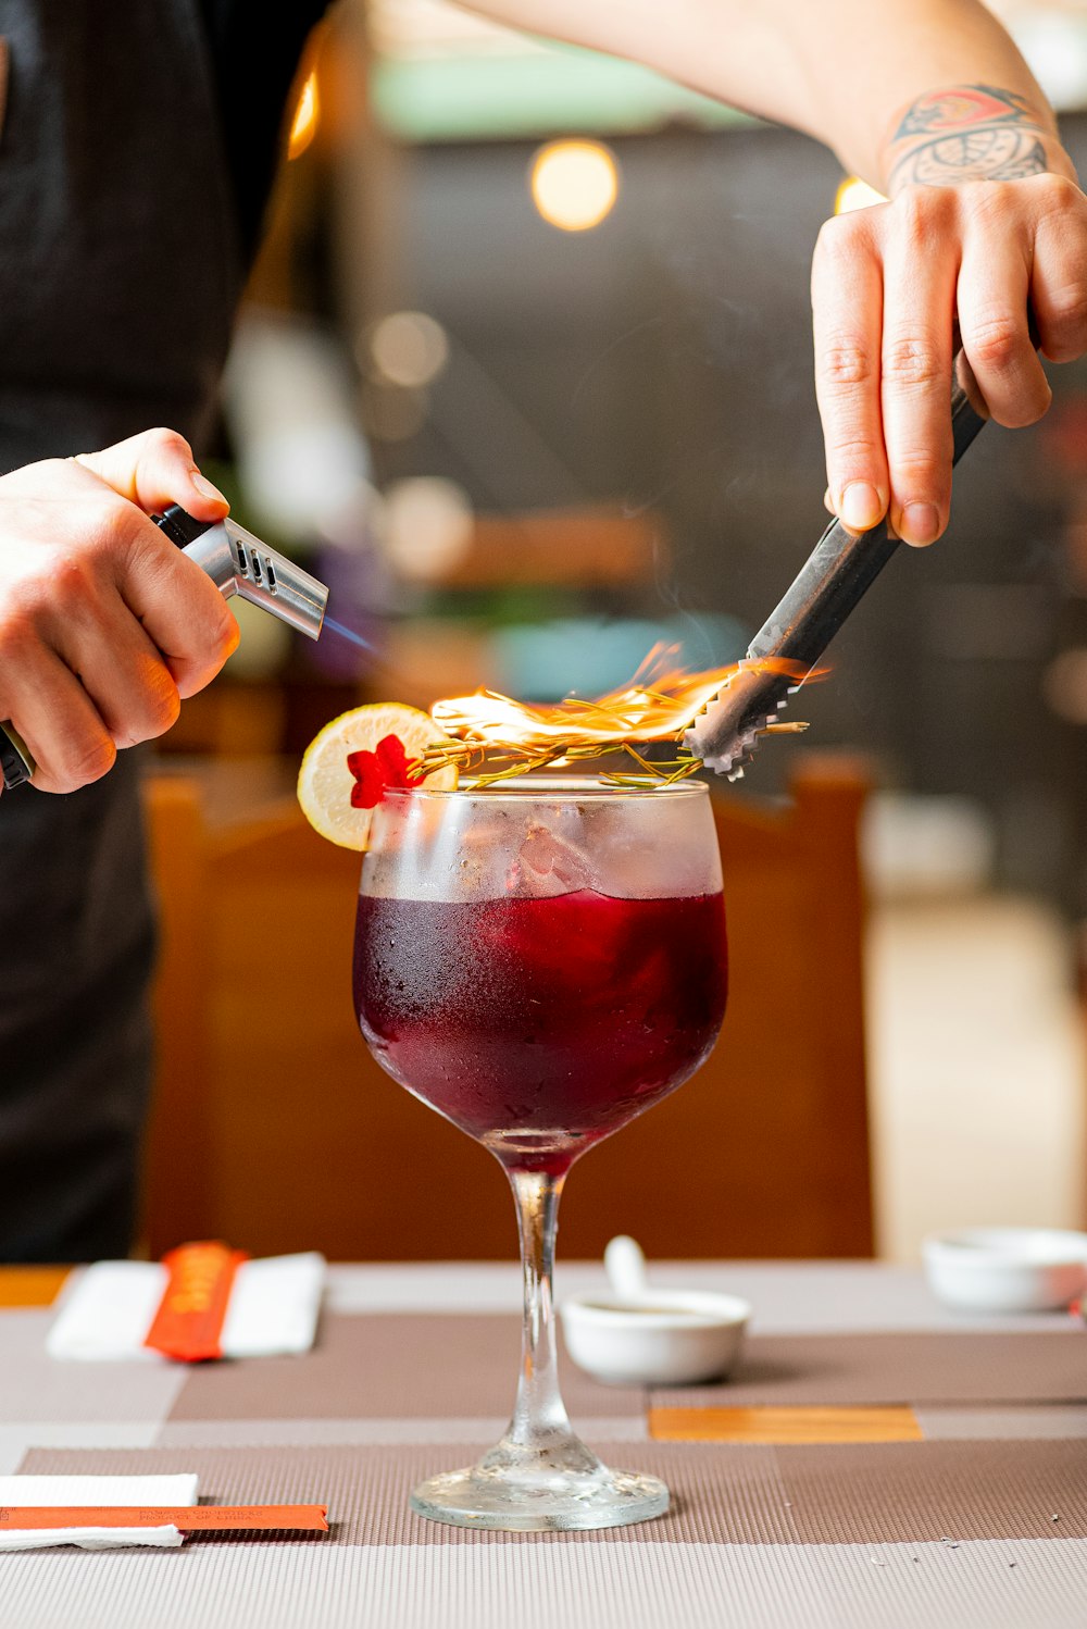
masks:
<path fill-rule="evenodd" d="M 1084 1629 L 1085 1582 L 1077 1539 L 0 1556 L 18 1629 Z"/>

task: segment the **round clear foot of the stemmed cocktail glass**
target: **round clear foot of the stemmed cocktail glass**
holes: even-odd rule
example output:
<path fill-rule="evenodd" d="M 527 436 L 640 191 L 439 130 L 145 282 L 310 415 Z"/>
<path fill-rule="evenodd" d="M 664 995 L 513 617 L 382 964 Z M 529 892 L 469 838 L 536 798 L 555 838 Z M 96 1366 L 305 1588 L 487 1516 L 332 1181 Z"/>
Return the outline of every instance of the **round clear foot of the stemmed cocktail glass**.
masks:
<path fill-rule="evenodd" d="M 420 1482 L 412 1510 L 452 1526 L 570 1533 L 649 1521 L 669 1508 L 669 1491 L 656 1476 L 610 1471 L 576 1438 L 570 1448 L 574 1443 L 579 1453 L 509 1451 L 500 1443 L 478 1464 Z"/>

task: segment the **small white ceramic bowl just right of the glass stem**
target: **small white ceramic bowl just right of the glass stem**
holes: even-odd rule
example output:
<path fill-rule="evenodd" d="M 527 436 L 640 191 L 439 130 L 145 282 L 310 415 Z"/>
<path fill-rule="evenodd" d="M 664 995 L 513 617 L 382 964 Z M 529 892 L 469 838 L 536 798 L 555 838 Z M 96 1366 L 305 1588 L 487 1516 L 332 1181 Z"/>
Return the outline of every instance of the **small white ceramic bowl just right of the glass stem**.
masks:
<path fill-rule="evenodd" d="M 563 1302 L 573 1362 L 610 1386 L 688 1386 L 722 1380 L 752 1315 L 739 1295 L 648 1290 L 640 1297 L 586 1295 Z"/>

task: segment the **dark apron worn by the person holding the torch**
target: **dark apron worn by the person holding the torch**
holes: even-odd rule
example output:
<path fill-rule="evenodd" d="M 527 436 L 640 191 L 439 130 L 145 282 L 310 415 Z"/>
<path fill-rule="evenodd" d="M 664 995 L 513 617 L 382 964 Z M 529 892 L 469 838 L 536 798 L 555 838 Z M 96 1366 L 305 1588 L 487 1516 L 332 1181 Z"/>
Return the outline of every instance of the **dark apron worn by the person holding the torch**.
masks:
<path fill-rule="evenodd" d="M 199 0 L 0 0 L 0 469 L 199 456 L 242 277 Z M 130 1246 L 153 937 L 135 754 L 0 797 L 0 1261 Z"/>

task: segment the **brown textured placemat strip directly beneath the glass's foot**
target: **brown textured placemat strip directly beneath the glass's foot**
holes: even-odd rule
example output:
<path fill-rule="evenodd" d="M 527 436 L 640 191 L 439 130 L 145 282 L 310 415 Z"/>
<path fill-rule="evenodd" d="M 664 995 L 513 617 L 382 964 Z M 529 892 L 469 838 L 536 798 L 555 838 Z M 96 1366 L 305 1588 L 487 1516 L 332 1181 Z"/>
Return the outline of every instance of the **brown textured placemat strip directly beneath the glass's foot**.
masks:
<path fill-rule="evenodd" d="M 646 1544 L 1087 1538 L 1087 1468 L 1079 1442 L 612 1443 L 602 1451 L 612 1464 L 662 1476 L 674 1508 L 636 1530 L 576 1535 L 576 1541 L 618 1543 L 631 1535 Z M 472 1455 L 449 1445 L 34 1450 L 21 1469 L 85 1476 L 197 1471 L 200 1497 L 216 1504 L 321 1500 L 335 1526 L 329 1539 L 311 1543 L 522 1543 L 519 1535 L 469 1533 L 410 1513 L 415 1482 L 465 1458 Z M 547 1543 L 570 1538 L 537 1536 Z"/>

